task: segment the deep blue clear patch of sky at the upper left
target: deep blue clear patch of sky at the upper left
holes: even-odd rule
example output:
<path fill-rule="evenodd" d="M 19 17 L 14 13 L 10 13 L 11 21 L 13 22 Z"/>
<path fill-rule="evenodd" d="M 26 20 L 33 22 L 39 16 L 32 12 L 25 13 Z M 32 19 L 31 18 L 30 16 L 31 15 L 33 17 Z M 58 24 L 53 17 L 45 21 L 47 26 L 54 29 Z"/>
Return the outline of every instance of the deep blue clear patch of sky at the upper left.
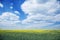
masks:
<path fill-rule="evenodd" d="M 13 12 L 14 11 L 19 11 L 22 18 L 20 18 L 21 20 L 25 18 L 25 14 L 21 9 L 21 4 L 24 2 L 25 0 L 0 0 L 0 2 L 4 5 L 3 8 L 0 7 L 0 14 L 2 14 L 3 12 Z M 13 9 L 11 9 L 10 7 L 13 7 Z M 7 10 L 6 10 L 7 9 Z M 23 16 L 22 16 L 23 15 Z"/>

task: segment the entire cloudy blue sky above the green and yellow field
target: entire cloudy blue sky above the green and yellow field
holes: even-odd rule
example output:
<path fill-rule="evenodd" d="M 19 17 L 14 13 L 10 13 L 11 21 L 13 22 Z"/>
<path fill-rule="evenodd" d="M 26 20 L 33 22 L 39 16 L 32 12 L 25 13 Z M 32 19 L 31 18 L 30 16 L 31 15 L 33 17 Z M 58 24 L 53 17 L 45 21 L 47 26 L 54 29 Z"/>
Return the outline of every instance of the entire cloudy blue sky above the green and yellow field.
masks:
<path fill-rule="evenodd" d="M 0 29 L 60 29 L 60 0 L 0 0 Z"/>

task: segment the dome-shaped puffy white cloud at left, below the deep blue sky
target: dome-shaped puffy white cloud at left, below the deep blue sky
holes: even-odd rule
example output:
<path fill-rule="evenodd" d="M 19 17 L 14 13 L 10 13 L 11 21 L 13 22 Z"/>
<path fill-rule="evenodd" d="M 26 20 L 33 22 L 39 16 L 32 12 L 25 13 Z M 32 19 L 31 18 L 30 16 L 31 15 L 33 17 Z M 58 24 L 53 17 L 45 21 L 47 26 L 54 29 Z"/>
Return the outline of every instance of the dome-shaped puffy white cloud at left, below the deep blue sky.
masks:
<path fill-rule="evenodd" d="M 13 14 L 13 13 L 10 13 L 10 12 L 4 12 L 2 13 L 2 15 L 0 16 L 0 20 L 3 20 L 3 21 L 18 21 L 19 20 L 19 16 Z"/>

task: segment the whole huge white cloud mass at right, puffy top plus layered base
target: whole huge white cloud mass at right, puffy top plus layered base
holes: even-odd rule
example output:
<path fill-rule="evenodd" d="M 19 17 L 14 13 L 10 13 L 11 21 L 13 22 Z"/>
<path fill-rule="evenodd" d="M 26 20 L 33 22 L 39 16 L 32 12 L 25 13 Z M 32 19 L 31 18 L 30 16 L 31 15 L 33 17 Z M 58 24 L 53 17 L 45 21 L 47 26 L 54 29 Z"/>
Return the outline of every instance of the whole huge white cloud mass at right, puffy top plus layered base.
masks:
<path fill-rule="evenodd" d="M 57 0 L 26 0 L 21 7 L 28 16 L 22 24 L 28 24 L 31 28 L 41 28 L 60 22 L 60 13 L 57 12 L 59 5 Z"/>

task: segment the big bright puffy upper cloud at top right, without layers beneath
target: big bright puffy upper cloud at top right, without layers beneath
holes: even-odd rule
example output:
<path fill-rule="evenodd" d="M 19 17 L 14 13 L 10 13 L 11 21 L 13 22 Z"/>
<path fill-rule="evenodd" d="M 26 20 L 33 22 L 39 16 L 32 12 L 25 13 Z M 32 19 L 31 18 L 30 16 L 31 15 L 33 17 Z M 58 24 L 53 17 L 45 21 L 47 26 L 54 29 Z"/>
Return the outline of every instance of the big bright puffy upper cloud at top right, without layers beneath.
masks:
<path fill-rule="evenodd" d="M 56 1 L 47 1 L 46 3 L 38 3 L 38 0 L 34 0 L 36 1 L 36 3 L 32 3 L 33 1 L 26 1 L 23 5 L 22 5 L 22 10 L 25 11 L 26 13 L 29 14 L 35 14 L 35 13 L 41 13 L 41 14 L 49 14 L 51 15 L 54 14 L 54 12 L 57 10 L 58 8 L 58 4 L 56 3 Z M 42 0 L 40 0 L 42 1 Z M 52 11 L 51 11 L 52 10 Z"/>

